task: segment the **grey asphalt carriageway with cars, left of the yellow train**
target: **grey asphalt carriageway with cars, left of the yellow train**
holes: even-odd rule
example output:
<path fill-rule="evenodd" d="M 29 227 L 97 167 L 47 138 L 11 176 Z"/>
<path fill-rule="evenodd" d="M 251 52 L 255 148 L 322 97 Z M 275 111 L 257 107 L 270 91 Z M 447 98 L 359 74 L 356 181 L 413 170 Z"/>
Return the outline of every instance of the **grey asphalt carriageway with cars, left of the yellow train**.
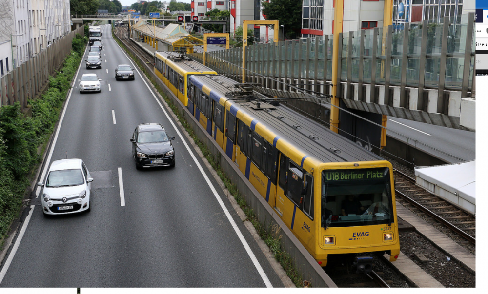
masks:
<path fill-rule="evenodd" d="M 116 65 L 129 61 L 108 26 L 103 45 L 102 69 L 82 64 L 77 77 L 97 73 L 102 93 L 80 94 L 75 83 L 50 159 L 67 152 L 85 161 L 100 187 L 92 188 L 92 210 L 45 218 L 35 206 L 0 287 L 282 287 L 210 177 L 235 228 L 229 222 L 190 154 L 193 148 L 186 150 L 141 77 L 115 81 Z M 136 170 L 129 138 L 146 122 L 162 123 L 176 137 L 175 168 Z"/>

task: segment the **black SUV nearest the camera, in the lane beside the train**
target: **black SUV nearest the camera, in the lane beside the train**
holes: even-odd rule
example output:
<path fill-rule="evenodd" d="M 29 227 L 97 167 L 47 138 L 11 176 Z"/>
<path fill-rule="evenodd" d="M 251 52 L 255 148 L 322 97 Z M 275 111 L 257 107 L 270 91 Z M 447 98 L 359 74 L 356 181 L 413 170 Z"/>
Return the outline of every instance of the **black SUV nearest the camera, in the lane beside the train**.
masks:
<path fill-rule="evenodd" d="M 174 139 L 159 123 L 138 125 L 130 139 L 136 168 L 175 166 L 175 150 L 171 144 Z"/>

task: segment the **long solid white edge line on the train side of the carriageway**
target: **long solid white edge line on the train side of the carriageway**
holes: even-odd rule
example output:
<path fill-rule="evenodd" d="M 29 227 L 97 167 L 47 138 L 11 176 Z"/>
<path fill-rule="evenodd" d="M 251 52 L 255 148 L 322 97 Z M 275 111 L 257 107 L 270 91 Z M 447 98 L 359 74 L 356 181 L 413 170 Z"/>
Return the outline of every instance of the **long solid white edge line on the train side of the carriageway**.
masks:
<path fill-rule="evenodd" d="M 120 47 L 119 47 L 120 48 Z M 122 50 L 122 48 L 120 48 Z M 125 54 L 125 52 L 122 50 L 122 53 Z M 129 59 L 129 58 L 128 58 Z M 134 65 L 134 63 L 132 63 L 132 60 L 129 59 L 129 62 L 131 62 L 132 65 Z M 139 70 L 137 69 L 136 66 L 134 66 L 134 68 L 137 70 L 137 72 L 139 73 Z M 139 73 L 139 75 L 141 76 L 141 74 Z M 249 257 L 251 258 L 254 266 L 256 267 L 256 270 L 258 271 L 258 273 L 261 275 L 261 278 L 263 279 L 264 281 L 264 284 L 266 285 L 267 288 L 273 288 L 273 285 L 271 284 L 271 282 L 269 281 L 266 273 L 264 273 L 264 270 L 263 268 L 261 267 L 261 264 L 259 263 L 258 259 L 256 258 L 256 256 L 254 255 L 254 253 L 252 252 L 251 248 L 249 247 L 249 244 L 247 243 L 247 241 L 245 240 L 244 238 L 244 235 L 241 233 L 241 231 L 239 230 L 239 228 L 237 227 L 237 224 L 235 223 L 234 219 L 232 218 L 232 216 L 230 215 L 229 211 L 227 210 L 227 208 L 225 207 L 224 205 L 224 202 L 222 201 L 221 197 L 219 196 L 219 194 L 217 193 L 217 190 L 215 190 L 215 187 L 213 186 L 213 184 L 210 182 L 210 179 L 208 178 L 208 176 L 205 174 L 205 172 L 203 171 L 203 168 L 202 166 L 200 165 L 200 163 L 198 162 L 197 158 L 195 157 L 195 155 L 193 154 L 193 152 L 191 151 L 190 147 L 188 146 L 188 144 L 186 143 L 185 139 L 183 138 L 183 135 L 180 133 L 180 131 L 178 130 L 178 128 L 176 127 L 175 123 L 173 122 L 173 120 L 169 117 L 168 113 L 166 112 L 166 110 L 164 109 L 163 105 L 161 104 L 161 101 L 156 97 L 156 94 L 154 94 L 154 92 L 152 91 L 151 87 L 149 87 L 149 85 L 147 84 L 146 80 L 144 78 L 142 78 L 142 80 L 144 81 L 144 84 L 146 84 L 146 87 L 149 89 L 149 91 L 151 92 L 151 94 L 153 95 L 154 99 L 156 99 L 156 102 L 158 102 L 159 106 L 161 107 L 161 109 L 163 110 L 164 114 L 166 115 L 166 117 L 168 118 L 169 122 L 171 123 L 171 125 L 173 126 L 173 128 L 175 129 L 176 133 L 178 134 L 178 136 L 182 139 L 183 141 L 183 144 L 185 145 L 186 149 L 188 150 L 188 153 L 191 155 L 191 157 L 193 158 L 193 161 L 195 161 L 195 164 L 198 166 L 198 169 L 200 170 L 200 173 L 203 175 L 203 178 L 205 179 L 205 181 L 207 182 L 208 186 L 210 187 L 210 190 L 212 190 L 212 193 L 214 194 L 215 198 L 217 199 L 217 201 L 219 202 L 222 210 L 224 211 L 225 213 L 225 216 L 227 216 L 227 219 L 229 220 L 230 224 L 232 225 L 232 228 L 234 229 L 234 231 L 236 232 L 237 236 L 239 237 L 239 240 L 241 241 L 241 243 L 243 244 L 246 252 L 247 252 L 247 255 L 249 255 Z"/>

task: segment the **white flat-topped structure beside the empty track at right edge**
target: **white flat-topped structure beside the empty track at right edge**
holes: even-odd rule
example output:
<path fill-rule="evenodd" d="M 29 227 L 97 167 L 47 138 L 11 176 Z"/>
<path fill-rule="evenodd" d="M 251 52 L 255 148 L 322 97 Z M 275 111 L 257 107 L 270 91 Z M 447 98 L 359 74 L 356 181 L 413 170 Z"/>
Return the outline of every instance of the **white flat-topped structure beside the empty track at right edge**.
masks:
<path fill-rule="evenodd" d="M 420 187 L 475 215 L 476 160 L 417 167 L 415 179 Z"/>

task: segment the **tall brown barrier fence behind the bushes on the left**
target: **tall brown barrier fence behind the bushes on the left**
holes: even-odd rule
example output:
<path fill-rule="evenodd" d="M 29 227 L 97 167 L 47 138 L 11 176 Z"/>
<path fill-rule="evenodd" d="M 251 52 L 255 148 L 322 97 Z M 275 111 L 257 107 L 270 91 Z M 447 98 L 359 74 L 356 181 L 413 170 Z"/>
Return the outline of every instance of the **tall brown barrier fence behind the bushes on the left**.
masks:
<path fill-rule="evenodd" d="M 42 88 L 49 82 L 49 76 L 61 67 L 63 60 L 71 52 L 71 42 L 75 35 L 84 36 L 84 33 L 84 26 L 69 32 L 1 77 L 0 107 L 20 102 L 24 110 L 27 107 L 27 100 L 40 94 Z"/>

